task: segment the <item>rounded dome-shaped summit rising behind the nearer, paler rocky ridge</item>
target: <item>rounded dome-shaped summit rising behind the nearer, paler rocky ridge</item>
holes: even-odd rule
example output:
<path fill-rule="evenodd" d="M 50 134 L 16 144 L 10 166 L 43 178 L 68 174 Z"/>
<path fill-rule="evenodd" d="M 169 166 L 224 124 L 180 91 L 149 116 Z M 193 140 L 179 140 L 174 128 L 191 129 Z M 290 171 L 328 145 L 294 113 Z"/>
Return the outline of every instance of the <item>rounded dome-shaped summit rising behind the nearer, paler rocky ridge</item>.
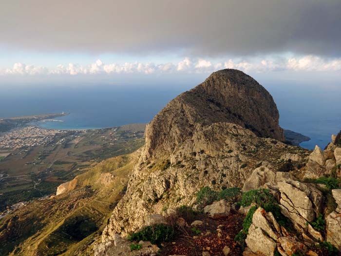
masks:
<path fill-rule="evenodd" d="M 191 139 L 197 126 L 235 123 L 258 137 L 283 141 L 277 106 L 255 79 L 235 69 L 212 73 L 203 83 L 179 95 L 146 129 L 147 157 L 170 154 Z"/>

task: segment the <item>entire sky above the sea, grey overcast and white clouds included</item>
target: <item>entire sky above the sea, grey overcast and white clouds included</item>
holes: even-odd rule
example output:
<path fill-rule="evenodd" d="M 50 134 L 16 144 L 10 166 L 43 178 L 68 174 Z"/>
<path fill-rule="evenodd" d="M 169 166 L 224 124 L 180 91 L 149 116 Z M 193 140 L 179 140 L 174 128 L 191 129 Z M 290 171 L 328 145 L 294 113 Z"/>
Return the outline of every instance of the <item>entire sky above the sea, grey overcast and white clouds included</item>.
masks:
<path fill-rule="evenodd" d="M 341 1 L 0 1 L 0 87 L 186 83 L 224 68 L 338 84 Z"/>

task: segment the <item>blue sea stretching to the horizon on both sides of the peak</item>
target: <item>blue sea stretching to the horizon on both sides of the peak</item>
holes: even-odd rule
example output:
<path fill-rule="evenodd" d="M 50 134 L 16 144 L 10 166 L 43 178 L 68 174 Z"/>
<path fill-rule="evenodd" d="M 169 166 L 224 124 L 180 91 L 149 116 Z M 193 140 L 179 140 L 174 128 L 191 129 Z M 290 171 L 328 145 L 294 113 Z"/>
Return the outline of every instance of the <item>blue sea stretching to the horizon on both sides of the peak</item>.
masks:
<path fill-rule="evenodd" d="M 263 84 L 264 85 L 264 84 Z M 324 148 L 341 129 L 341 90 L 298 89 L 297 84 L 266 86 L 279 112 L 280 125 L 311 138 L 302 147 Z M 0 118 L 70 113 L 44 122 L 49 129 L 95 129 L 129 123 L 147 123 L 189 86 L 36 86 L 10 87 L 0 93 Z"/>

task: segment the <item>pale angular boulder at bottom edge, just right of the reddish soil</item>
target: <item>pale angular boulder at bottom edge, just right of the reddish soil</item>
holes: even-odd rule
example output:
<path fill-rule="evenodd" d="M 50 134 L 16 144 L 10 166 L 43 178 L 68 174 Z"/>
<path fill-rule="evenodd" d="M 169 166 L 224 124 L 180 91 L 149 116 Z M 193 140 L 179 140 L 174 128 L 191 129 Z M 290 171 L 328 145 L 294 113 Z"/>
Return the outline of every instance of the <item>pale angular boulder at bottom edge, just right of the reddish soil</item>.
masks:
<path fill-rule="evenodd" d="M 247 247 L 253 253 L 259 256 L 274 256 L 277 243 L 269 236 L 266 236 L 262 229 L 257 228 L 254 224 L 251 224 L 248 229 L 248 235 L 245 241 Z"/>

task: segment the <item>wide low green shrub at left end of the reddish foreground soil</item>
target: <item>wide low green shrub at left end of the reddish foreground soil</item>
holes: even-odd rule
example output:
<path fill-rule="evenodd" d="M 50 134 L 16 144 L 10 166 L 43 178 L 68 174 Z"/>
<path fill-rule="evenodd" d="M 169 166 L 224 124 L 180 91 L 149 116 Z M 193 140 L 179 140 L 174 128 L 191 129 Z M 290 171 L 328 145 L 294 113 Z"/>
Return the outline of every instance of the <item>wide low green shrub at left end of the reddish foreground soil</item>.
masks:
<path fill-rule="evenodd" d="M 150 241 L 152 244 L 160 246 L 162 242 L 169 242 L 173 238 L 174 233 L 173 227 L 166 224 L 156 224 L 133 233 L 128 236 L 128 240 L 137 242 L 141 240 Z"/>

